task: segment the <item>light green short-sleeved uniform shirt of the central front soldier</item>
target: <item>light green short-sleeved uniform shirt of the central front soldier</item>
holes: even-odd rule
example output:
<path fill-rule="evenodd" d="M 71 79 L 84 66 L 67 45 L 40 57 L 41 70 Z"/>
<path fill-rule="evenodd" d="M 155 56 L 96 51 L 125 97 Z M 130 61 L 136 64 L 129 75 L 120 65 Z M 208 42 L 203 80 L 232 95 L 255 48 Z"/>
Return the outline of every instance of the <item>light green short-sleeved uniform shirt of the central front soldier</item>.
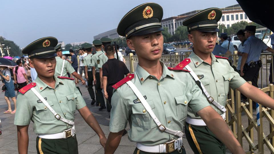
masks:
<path fill-rule="evenodd" d="M 189 73 L 169 70 L 162 62 L 161 64 L 163 71 L 160 80 L 138 65 L 131 81 L 146 98 L 162 125 L 183 131 L 188 108 L 196 113 L 209 106 L 209 103 Z M 130 141 L 157 145 L 177 139 L 177 136 L 158 129 L 128 84 L 114 89 L 111 106 L 111 132 L 125 129 L 129 122 Z"/>

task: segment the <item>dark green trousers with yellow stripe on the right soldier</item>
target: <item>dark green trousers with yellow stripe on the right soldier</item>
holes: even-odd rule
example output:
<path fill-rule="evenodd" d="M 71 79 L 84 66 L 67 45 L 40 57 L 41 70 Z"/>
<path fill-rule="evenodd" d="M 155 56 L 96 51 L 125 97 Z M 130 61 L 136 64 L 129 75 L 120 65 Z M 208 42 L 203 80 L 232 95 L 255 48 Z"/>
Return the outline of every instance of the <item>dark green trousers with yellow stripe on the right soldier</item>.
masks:
<path fill-rule="evenodd" d="M 186 123 L 185 134 L 188 144 L 195 154 L 225 154 L 225 145 L 217 139 L 207 126 L 196 126 Z"/>

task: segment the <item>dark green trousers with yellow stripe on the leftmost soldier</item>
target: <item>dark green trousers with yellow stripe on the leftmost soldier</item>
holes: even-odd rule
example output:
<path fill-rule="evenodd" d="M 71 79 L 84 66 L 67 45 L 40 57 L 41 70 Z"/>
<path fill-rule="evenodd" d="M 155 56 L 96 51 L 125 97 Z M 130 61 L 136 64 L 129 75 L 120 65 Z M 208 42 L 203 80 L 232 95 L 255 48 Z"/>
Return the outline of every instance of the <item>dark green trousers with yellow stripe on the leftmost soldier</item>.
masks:
<path fill-rule="evenodd" d="M 67 139 L 36 138 L 36 150 L 39 154 L 78 154 L 76 135 Z"/>

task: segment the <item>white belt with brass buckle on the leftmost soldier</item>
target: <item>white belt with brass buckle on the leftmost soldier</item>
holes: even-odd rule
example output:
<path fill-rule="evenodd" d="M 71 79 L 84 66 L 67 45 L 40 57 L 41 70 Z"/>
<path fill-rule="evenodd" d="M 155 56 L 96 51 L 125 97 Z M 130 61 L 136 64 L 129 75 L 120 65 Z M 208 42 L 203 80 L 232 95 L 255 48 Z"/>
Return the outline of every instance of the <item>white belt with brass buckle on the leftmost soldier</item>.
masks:
<path fill-rule="evenodd" d="M 74 125 L 72 128 L 67 129 L 61 133 L 56 134 L 38 134 L 38 137 L 42 139 L 67 139 L 68 137 L 74 137 L 75 135 L 75 127 Z"/>

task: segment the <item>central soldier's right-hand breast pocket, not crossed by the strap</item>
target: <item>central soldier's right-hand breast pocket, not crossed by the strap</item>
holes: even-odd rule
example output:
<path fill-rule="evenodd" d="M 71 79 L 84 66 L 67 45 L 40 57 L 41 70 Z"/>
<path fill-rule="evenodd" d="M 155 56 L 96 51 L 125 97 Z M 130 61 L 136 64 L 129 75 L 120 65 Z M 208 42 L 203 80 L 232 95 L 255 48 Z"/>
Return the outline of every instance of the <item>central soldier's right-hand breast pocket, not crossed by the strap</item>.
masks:
<path fill-rule="evenodd" d="M 188 93 L 174 97 L 176 100 L 176 112 L 179 121 L 186 119 L 188 113 L 188 103 L 192 100 L 192 94 Z"/>

